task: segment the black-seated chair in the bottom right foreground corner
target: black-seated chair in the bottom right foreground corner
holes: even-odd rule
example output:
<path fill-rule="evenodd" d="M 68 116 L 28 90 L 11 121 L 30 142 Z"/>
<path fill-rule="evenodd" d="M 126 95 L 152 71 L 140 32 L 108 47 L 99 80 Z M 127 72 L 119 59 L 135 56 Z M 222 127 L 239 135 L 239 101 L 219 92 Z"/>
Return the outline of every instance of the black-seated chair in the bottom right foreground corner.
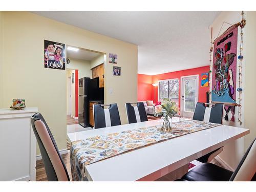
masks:
<path fill-rule="evenodd" d="M 203 163 L 176 181 L 256 181 L 256 141 L 249 146 L 234 172 L 211 163 Z"/>

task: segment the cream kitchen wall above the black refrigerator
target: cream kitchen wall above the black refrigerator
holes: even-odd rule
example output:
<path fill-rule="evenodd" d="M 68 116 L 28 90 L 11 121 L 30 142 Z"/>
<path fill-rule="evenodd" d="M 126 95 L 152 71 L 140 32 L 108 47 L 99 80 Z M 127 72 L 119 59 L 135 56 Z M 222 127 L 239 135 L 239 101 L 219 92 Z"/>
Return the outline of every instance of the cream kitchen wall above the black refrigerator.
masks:
<path fill-rule="evenodd" d="M 78 79 L 83 77 L 92 78 L 91 61 L 70 58 L 68 55 L 67 57 L 70 59 L 70 63 L 67 65 L 67 69 L 77 69 Z"/>

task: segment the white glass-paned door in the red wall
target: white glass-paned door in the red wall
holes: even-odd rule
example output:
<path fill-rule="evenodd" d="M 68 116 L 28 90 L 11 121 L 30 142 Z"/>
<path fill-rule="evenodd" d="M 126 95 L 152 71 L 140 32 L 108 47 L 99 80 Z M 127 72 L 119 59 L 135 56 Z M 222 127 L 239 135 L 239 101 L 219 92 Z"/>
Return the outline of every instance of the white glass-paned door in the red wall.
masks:
<path fill-rule="evenodd" d="M 198 75 L 181 77 L 181 116 L 192 118 L 198 102 Z"/>

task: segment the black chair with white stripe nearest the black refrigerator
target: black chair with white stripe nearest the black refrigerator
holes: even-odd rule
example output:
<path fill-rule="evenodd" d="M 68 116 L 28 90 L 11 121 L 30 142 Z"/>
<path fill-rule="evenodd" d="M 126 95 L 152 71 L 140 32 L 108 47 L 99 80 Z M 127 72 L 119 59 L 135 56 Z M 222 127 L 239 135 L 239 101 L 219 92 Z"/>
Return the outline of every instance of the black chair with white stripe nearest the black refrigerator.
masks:
<path fill-rule="evenodd" d="M 109 106 L 109 108 L 103 109 L 102 106 Z M 95 129 L 121 124 L 116 103 L 110 105 L 94 104 L 93 114 Z"/>

